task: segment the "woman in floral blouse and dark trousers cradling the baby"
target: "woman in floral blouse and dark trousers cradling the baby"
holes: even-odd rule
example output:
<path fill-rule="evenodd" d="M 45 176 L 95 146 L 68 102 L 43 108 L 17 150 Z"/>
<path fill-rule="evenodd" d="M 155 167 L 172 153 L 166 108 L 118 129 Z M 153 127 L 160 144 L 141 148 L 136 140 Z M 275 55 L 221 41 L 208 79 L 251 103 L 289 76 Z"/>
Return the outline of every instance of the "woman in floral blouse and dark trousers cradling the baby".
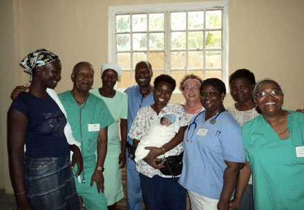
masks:
<path fill-rule="evenodd" d="M 160 124 L 160 119 L 167 114 L 174 115 L 175 120 L 170 126 L 178 124 L 174 137 L 160 147 L 148 146 L 149 154 L 143 160 L 137 161 L 136 170 L 140 172 L 140 184 L 146 209 L 186 209 L 186 190 L 171 178 L 164 175 L 160 169 L 164 161 L 158 164 L 160 155 L 172 156 L 182 153 L 182 139 L 187 128 L 187 117 L 184 107 L 180 104 L 168 104 L 175 89 L 175 80 L 169 75 L 155 78 L 153 97 L 155 104 L 145 106 L 137 112 L 129 137 L 137 146 L 149 131 L 154 122 Z M 166 126 L 166 125 L 162 125 Z"/>

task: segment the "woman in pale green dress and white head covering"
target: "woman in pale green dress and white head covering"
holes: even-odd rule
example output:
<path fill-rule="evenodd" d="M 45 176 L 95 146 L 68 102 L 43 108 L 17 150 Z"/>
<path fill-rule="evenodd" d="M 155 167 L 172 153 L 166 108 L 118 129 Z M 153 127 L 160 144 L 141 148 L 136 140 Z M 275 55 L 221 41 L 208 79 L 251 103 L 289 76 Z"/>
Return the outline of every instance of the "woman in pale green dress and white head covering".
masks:
<path fill-rule="evenodd" d="M 122 167 L 126 163 L 126 118 L 128 114 L 128 97 L 114 89 L 122 67 L 115 63 L 102 64 L 102 87 L 91 90 L 93 95 L 101 98 L 111 111 L 115 122 L 108 126 L 108 149 L 104 162 L 104 195 L 108 209 L 116 209 L 116 203 L 124 198 L 122 188 Z M 122 146 L 120 146 L 120 135 Z"/>

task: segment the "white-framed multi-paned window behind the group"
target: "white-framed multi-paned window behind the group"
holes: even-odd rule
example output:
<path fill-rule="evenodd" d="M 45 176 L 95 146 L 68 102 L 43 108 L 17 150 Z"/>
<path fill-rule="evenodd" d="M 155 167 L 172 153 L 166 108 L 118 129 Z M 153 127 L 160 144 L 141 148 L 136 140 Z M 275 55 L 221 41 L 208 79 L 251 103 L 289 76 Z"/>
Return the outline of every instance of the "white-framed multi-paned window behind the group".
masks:
<path fill-rule="evenodd" d="M 111 6 L 109 30 L 115 39 L 109 37 L 109 61 L 124 70 L 117 88 L 135 85 L 138 61 L 151 63 L 154 78 L 166 73 L 180 82 L 191 73 L 227 83 L 227 3 Z"/>

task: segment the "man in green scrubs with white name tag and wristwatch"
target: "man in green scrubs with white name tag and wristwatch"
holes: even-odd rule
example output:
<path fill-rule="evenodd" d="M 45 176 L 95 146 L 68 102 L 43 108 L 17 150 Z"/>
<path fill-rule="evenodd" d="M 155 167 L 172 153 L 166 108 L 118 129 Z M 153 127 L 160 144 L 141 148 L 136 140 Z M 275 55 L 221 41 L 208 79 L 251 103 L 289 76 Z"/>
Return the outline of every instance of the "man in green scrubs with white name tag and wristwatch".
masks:
<path fill-rule="evenodd" d="M 93 77 L 94 69 L 91 64 L 76 64 L 71 75 L 73 89 L 58 96 L 66 109 L 73 136 L 82 144 L 80 149 L 84 159 L 84 172 L 78 179 L 75 176 L 77 193 L 82 196 L 86 209 L 106 210 L 102 172 L 106 158 L 108 126 L 114 119 L 104 101 L 88 92 L 93 86 Z M 73 172 L 77 172 L 76 167 Z"/>

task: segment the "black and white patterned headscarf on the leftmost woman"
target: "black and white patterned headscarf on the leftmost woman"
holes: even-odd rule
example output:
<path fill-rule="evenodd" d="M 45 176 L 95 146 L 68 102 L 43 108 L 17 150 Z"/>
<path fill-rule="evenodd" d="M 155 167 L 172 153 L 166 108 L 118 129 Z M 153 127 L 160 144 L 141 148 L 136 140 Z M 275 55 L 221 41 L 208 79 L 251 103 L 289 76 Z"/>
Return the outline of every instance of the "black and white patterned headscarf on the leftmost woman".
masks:
<path fill-rule="evenodd" d="M 32 81 L 32 70 L 34 70 L 36 67 L 49 64 L 55 60 L 60 61 L 59 57 L 53 52 L 46 49 L 38 49 L 26 55 L 26 57 L 21 60 L 20 64 L 24 67 L 26 72 L 30 73 L 30 81 Z"/>

